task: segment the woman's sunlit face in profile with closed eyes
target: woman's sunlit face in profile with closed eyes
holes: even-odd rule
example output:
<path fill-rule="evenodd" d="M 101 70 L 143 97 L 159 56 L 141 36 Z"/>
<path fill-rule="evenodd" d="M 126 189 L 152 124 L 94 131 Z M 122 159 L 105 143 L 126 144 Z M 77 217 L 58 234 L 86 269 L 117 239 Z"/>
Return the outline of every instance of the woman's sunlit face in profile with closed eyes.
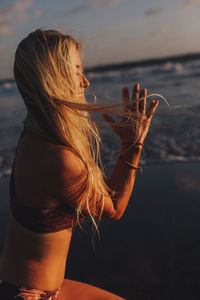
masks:
<path fill-rule="evenodd" d="M 85 75 L 83 74 L 82 62 L 81 62 L 81 58 L 80 58 L 80 54 L 79 54 L 78 50 L 76 50 L 76 52 L 75 52 L 73 64 L 75 65 L 75 67 L 77 69 L 76 74 L 77 74 L 78 92 L 82 94 L 82 93 L 84 93 L 84 89 L 89 87 L 90 83 L 87 80 L 87 78 L 85 77 Z"/>

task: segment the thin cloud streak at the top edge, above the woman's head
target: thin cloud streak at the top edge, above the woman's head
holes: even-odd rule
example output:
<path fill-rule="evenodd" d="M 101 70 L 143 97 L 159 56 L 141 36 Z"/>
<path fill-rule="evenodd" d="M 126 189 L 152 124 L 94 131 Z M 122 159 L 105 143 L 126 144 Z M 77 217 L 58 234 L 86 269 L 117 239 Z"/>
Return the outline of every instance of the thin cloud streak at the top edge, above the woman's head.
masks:
<path fill-rule="evenodd" d="M 86 0 L 85 3 L 80 4 L 67 11 L 67 14 L 78 14 L 96 7 L 115 6 L 123 1 L 125 0 Z"/>

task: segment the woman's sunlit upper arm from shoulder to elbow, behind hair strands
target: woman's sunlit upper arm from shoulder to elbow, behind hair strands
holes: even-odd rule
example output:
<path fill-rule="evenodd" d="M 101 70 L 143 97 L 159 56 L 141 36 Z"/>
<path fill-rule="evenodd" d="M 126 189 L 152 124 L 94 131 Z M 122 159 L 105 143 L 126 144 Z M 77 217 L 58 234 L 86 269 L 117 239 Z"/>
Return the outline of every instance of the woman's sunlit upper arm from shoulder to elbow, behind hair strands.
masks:
<path fill-rule="evenodd" d="M 56 155 L 58 164 L 55 172 L 55 198 L 77 208 L 87 189 L 87 168 L 81 158 L 70 149 L 59 149 Z M 94 190 L 91 191 L 91 196 L 89 196 L 90 212 L 87 205 L 82 206 L 82 212 L 86 216 L 93 213 L 94 201 L 102 200 L 101 193 L 96 193 L 96 197 L 94 193 Z M 103 194 L 105 196 L 103 212 L 101 206 L 97 206 L 94 215 L 99 214 L 102 218 L 114 219 L 116 213 L 112 199 L 106 189 L 103 190 Z"/>

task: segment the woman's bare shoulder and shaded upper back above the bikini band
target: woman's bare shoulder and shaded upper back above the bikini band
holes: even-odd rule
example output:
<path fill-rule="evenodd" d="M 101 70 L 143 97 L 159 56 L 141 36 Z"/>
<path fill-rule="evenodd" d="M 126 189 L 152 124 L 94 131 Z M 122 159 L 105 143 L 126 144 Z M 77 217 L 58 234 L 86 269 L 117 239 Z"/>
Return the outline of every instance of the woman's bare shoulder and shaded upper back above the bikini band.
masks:
<path fill-rule="evenodd" d="M 35 203 L 34 199 L 38 199 L 37 205 L 56 204 L 64 193 L 69 195 L 85 172 L 83 161 L 69 147 L 48 143 L 33 134 L 26 134 L 20 142 L 14 175 L 17 194 L 24 204 Z"/>

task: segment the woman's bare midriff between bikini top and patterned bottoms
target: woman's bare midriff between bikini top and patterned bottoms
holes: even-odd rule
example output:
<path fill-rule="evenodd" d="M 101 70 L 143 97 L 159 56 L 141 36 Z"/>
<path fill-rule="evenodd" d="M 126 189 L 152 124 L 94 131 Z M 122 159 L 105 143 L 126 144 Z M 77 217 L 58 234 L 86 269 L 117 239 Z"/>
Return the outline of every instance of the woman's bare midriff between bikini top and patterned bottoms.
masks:
<path fill-rule="evenodd" d="M 35 233 L 22 227 L 11 215 L 1 256 L 0 279 L 35 289 L 59 288 L 65 275 L 71 235 L 71 228 Z"/>

